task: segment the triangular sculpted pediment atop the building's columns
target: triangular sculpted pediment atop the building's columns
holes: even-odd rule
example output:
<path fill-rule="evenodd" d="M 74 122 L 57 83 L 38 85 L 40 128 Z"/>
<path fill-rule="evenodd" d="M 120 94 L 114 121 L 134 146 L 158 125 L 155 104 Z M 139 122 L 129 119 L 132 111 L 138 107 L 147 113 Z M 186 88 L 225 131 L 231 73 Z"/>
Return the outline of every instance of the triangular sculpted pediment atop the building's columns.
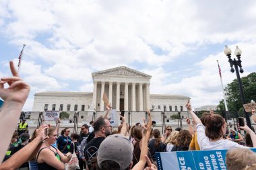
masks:
<path fill-rule="evenodd" d="M 113 69 L 107 69 L 104 71 L 98 71 L 92 73 L 92 76 L 94 75 L 117 75 L 117 76 L 134 76 L 134 77 L 152 77 L 151 75 L 147 75 L 145 73 L 141 73 L 139 71 L 135 71 L 133 69 L 130 69 L 128 67 L 116 67 Z"/>

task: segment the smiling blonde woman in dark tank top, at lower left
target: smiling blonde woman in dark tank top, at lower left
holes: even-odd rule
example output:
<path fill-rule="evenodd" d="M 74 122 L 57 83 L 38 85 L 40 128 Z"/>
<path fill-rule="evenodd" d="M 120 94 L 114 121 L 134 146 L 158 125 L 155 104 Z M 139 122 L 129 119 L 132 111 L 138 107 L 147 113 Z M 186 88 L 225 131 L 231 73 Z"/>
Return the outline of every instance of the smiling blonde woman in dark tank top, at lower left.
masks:
<path fill-rule="evenodd" d="M 36 155 L 38 170 L 65 169 L 64 163 L 69 162 L 72 157 L 71 153 L 63 155 L 58 148 L 52 146 L 57 140 L 55 126 L 50 126 L 47 136 L 49 138 L 44 140 Z"/>

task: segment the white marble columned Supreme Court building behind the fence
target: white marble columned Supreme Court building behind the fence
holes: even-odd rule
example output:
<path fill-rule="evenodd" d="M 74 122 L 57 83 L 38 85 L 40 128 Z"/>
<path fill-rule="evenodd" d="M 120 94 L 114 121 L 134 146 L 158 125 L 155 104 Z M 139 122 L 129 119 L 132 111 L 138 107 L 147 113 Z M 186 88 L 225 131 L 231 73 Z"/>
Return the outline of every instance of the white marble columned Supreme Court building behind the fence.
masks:
<path fill-rule="evenodd" d="M 103 111 L 105 91 L 108 101 L 117 111 L 139 112 L 187 111 L 190 97 L 182 95 L 150 94 L 152 76 L 127 67 L 116 67 L 92 73 L 93 92 L 48 91 L 34 94 L 32 112 L 59 110 L 63 112 Z M 161 87 L 159 87 L 161 88 Z"/>

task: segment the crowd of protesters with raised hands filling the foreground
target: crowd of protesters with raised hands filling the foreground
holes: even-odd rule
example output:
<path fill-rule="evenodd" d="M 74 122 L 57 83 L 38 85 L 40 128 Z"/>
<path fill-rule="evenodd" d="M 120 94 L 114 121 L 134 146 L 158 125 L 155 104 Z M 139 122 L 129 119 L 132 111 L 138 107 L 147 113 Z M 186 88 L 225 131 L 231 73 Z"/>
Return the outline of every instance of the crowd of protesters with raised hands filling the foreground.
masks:
<path fill-rule="evenodd" d="M 0 134 L 5 136 L 1 139 L 0 169 L 69 169 L 67 163 L 75 153 L 79 162 L 76 169 L 156 170 L 158 152 L 217 149 L 228 150 L 228 169 L 256 168 L 256 154 L 248 149 L 256 146 L 255 132 L 247 125 L 240 127 L 246 132 L 245 138 L 234 129 L 227 132 L 222 116 L 210 112 L 198 118 L 189 101 L 186 108 L 192 120 L 187 118 L 187 130 L 181 127 L 172 130 L 171 126 L 166 126 L 162 135 L 154 127 L 156 122 L 152 121 L 149 110 L 146 111 L 148 122 L 144 120 L 143 124 L 130 127 L 125 116 L 120 116 L 121 125 L 114 131 L 108 120 L 110 105 L 106 105 L 104 116 L 82 125 L 79 134 L 69 135 L 69 128 L 63 128 L 59 135 L 61 120 L 56 127 L 43 124 L 34 130 L 31 138 L 25 121 L 15 132 L 15 120 L 20 116 L 30 86 L 19 77 L 13 62 L 10 62 L 10 69 L 13 77 L 0 81 L 0 97 L 5 101 L 0 121 L 6 129 Z M 252 110 L 252 118 L 256 122 L 255 110 Z"/>

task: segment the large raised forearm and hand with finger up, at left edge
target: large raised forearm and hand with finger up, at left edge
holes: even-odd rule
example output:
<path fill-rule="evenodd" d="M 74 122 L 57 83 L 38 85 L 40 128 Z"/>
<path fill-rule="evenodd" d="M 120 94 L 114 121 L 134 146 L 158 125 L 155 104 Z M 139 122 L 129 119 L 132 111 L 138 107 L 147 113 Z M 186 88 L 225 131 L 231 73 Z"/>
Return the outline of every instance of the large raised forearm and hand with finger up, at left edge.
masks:
<path fill-rule="evenodd" d="M 0 80 L 0 97 L 5 101 L 0 112 L 0 124 L 5 127 L 5 130 L 0 130 L 0 136 L 5 136 L 1 140 L 0 162 L 3 161 L 22 107 L 30 92 L 30 86 L 18 77 L 18 72 L 12 61 L 10 62 L 10 69 L 13 77 L 5 77 Z M 8 84 L 9 87 L 5 88 L 5 84 Z"/>

